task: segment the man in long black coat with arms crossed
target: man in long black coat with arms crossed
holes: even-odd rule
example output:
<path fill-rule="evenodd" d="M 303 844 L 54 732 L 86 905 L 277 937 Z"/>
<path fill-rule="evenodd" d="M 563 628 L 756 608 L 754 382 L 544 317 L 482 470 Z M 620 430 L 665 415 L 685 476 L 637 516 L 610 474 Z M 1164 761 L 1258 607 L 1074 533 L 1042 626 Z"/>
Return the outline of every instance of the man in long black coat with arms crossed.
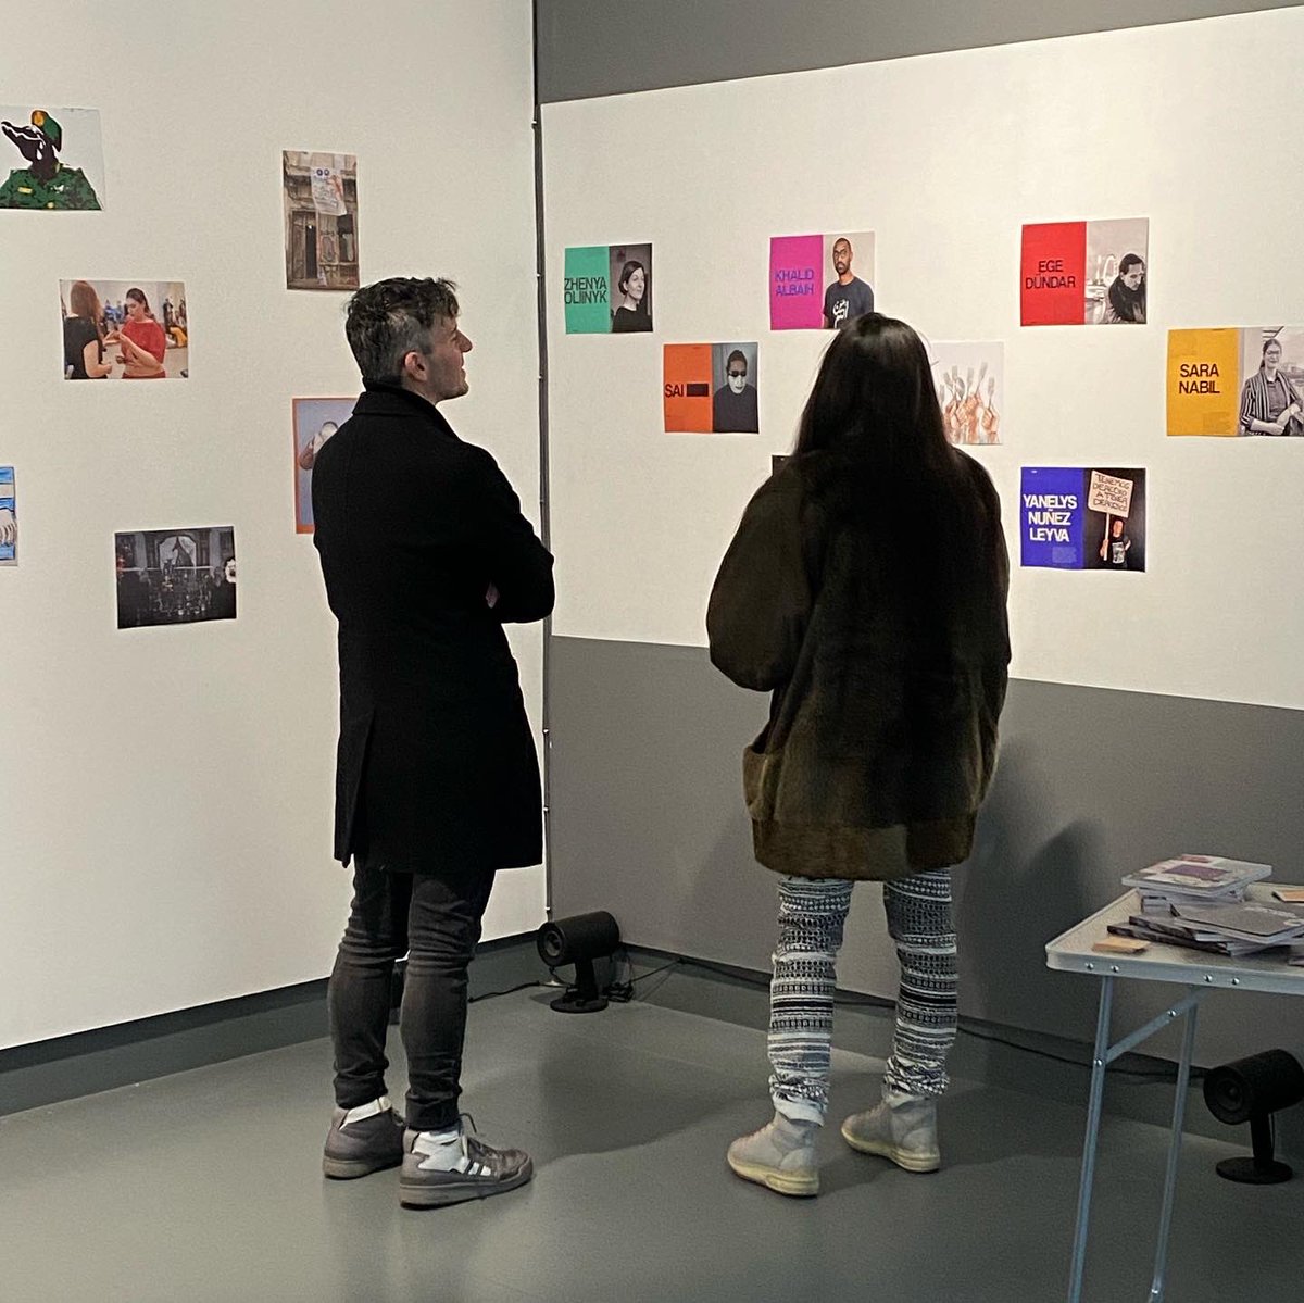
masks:
<path fill-rule="evenodd" d="M 494 459 L 437 404 L 467 393 L 471 340 L 446 280 L 391 279 L 348 305 L 365 393 L 313 466 L 314 543 L 339 621 L 335 857 L 353 903 L 330 980 L 327 1176 L 399 1163 L 408 1206 L 524 1184 L 458 1113 L 467 965 L 498 869 L 539 863 L 539 760 L 505 622 L 553 607 L 553 558 Z M 394 963 L 406 1130 L 385 1086 Z"/>

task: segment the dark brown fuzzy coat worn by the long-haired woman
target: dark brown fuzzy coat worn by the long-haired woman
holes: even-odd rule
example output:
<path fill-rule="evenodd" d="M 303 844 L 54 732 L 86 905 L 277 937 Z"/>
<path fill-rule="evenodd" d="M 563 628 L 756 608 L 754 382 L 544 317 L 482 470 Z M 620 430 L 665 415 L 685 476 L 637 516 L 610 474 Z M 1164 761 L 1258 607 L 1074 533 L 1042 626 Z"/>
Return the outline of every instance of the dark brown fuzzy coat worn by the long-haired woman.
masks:
<path fill-rule="evenodd" d="M 908 497 L 790 458 L 755 494 L 711 593 L 713 664 L 771 691 L 743 753 L 758 861 L 893 879 L 960 863 L 996 764 L 1009 583 L 1000 501 L 951 451 Z"/>

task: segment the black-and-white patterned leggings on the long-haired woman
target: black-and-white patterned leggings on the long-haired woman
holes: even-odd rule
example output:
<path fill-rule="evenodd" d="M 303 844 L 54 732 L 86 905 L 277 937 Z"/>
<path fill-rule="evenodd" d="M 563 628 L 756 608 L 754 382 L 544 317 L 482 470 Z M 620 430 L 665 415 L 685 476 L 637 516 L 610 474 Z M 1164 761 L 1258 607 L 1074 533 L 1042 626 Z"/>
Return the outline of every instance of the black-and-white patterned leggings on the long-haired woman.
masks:
<path fill-rule="evenodd" d="M 823 1122 L 828 1110 L 835 964 L 854 884 L 838 878 L 781 878 L 778 948 L 769 986 L 769 1093 L 777 1111 Z M 951 871 L 883 884 L 888 931 L 901 961 L 896 1034 L 883 1089 L 940 1096 L 956 1040 L 956 933 Z"/>

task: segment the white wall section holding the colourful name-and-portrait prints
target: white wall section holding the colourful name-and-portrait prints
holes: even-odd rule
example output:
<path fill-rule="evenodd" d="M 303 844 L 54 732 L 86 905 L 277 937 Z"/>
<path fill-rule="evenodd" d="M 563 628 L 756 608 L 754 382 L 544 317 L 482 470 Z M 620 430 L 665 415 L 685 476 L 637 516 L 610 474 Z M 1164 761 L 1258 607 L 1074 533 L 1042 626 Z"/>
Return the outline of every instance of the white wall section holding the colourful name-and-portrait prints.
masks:
<path fill-rule="evenodd" d="M 1005 343 L 1013 673 L 1304 706 L 1304 441 L 1170 440 L 1167 331 L 1304 320 L 1304 10 L 548 106 L 554 633 L 704 646 L 823 333 L 771 333 L 773 235 L 872 230 L 876 305 Z M 1149 325 L 1020 327 L 1024 223 L 1150 219 Z M 653 244 L 655 333 L 566 335 L 567 245 Z M 759 436 L 665 434 L 664 343 L 760 342 Z M 1149 471 L 1148 573 L 1018 567 L 1024 466 Z"/>

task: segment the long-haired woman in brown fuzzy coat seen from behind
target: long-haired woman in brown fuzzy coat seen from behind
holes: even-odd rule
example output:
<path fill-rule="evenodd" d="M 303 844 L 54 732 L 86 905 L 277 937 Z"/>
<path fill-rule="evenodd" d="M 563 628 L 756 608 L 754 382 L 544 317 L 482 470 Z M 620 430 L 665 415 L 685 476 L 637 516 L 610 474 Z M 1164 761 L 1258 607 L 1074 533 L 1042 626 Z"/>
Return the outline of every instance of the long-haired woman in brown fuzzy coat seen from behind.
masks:
<path fill-rule="evenodd" d="M 996 760 L 1007 588 L 996 490 L 947 442 L 923 343 L 889 317 L 853 320 L 824 355 L 794 454 L 743 514 L 707 616 L 713 664 L 772 694 L 743 753 L 756 860 L 778 875 L 775 1118 L 729 1149 L 747 1180 L 819 1191 L 835 963 L 863 880 L 883 883 L 901 986 L 883 1100 L 842 1136 L 909 1171 L 940 1165 L 951 870 Z"/>

